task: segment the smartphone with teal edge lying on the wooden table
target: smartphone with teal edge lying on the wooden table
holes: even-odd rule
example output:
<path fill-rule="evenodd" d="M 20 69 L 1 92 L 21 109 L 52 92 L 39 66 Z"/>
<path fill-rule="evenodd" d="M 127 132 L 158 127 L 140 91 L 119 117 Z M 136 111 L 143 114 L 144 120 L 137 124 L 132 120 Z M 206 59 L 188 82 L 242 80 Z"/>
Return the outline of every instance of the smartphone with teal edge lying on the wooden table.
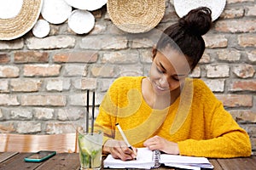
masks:
<path fill-rule="evenodd" d="M 25 157 L 24 160 L 32 161 L 32 162 L 40 162 L 40 161 L 45 161 L 55 155 L 56 155 L 56 151 L 40 150 L 36 153 L 32 153 L 32 155 L 30 156 Z"/>

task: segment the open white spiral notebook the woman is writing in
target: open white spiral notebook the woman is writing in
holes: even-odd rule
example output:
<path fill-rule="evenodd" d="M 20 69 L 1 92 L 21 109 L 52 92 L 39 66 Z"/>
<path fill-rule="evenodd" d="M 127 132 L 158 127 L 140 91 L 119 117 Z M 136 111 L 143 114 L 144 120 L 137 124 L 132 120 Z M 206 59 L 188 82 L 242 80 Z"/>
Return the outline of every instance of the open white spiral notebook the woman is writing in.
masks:
<path fill-rule="evenodd" d="M 108 155 L 103 161 L 104 167 L 108 168 L 143 168 L 151 169 L 165 165 L 167 167 L 179 167 L 183 169 L 201 169 L 213 166 L 206 157 L 175 156 L 161 154 L 159 150 L 148 150 L 148 148 L 137 148 L 137 160 L 121 161 Z"/>

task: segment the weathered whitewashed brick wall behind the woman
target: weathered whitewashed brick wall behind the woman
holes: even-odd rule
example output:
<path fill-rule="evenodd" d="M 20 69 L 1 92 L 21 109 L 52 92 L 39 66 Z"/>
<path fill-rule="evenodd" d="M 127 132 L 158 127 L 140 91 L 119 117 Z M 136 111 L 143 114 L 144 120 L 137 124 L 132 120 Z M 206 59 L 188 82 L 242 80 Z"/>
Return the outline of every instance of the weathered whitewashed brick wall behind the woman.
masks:
<path fill-rule="evenodd" d="M 76 35 L 67 23 L 51 25 L 48 37 L 28 32 L 0 41 L 0 131 L 68 133 L 84 124 L 86 90 L 96 105 L 119 76 L 148 74 L 151 47 L 175 22 L 172 1 L 152 31 L 129 34 L 109 20 L 106 6 L 93 12 L 96 26 Z M 207 50 L 191 77 L 200 77 L 251 137 L 256 150 L 256 5 L 227 0 L 204 36 Z M 96 109 L 97 112 L 97 109 Z"/>

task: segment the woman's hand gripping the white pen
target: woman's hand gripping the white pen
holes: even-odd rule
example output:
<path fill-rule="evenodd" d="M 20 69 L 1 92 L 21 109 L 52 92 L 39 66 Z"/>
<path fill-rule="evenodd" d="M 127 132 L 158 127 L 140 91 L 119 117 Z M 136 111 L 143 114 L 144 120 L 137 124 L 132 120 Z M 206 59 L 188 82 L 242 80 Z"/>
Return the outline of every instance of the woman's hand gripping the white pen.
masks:
<path fill-rule="evenodd" d="M 131 150 L 123 140 L 108 139 L 103 145 L 102 153 L 111 154 L 113 158 L 128 161 L 136 158 L 137 148 L 133 147 Z"/>

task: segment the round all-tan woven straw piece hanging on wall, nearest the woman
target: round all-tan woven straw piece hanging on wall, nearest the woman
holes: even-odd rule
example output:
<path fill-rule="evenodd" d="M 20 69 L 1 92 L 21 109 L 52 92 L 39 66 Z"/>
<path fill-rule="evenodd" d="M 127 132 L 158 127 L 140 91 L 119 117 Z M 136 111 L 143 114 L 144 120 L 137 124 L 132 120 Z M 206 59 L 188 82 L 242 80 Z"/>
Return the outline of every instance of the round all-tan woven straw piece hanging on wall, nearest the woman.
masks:
<path fill-rule="evenodd" d="M 113 24 L 130 33 L 146 32 L 157 26 L 165 14 L 165 0 L 108 0 Z"/>

